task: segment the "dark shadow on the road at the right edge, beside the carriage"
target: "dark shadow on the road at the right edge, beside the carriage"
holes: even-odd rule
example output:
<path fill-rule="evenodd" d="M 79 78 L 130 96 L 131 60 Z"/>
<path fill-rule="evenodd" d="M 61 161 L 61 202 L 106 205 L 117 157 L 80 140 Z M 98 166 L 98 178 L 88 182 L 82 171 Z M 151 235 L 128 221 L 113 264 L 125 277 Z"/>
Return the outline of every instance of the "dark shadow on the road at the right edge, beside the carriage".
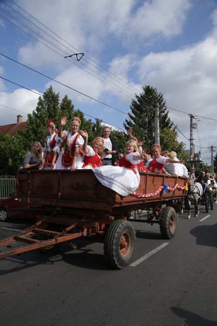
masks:
<path fill-rule="evenodd" d="M 202 246 L 217 247 L 217 224 L 200 225 L 190 231 L 194 235 L 197 244 Z"/>

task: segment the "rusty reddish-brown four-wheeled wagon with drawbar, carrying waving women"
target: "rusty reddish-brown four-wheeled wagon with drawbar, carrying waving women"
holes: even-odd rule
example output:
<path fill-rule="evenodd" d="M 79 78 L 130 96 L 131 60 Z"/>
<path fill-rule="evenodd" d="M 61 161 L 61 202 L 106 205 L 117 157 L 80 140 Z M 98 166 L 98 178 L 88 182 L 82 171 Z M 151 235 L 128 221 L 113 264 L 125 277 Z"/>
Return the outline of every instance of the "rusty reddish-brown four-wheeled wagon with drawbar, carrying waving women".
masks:
<path fill-rule="evenodd" d="M 145 223 L 157 223 L 163 238 L 177 227 L 178 202 L 185 195 L 186 178 L 140 173 L 137 191 L 122 197 L 96 179 L 91 170 L 19 170 L 18 200 L 41 205 L 36 223 L 0 242 L 0 258 L 40 249 L 56 249 L 61 242 L 88 238 L 104 242 L 107 263 L 116 269 L 130 264 L 135 231 L 132 211 L 147 210 Z"/>

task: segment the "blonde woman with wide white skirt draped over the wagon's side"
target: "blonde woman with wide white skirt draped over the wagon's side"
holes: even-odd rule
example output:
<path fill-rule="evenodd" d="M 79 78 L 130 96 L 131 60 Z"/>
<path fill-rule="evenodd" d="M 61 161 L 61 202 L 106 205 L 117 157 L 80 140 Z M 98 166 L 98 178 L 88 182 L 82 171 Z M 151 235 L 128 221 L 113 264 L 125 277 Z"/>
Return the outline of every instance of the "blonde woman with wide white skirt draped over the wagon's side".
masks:
<path fill-rule="evenodd" d="M 128 141 L 126 143 L 126 154 L 119 161 L 118 166 L 103 166 L 94 168 L 96 178 L 104 186 L 113 189 L 121 196 L 127 196 L 134 192 L 140 183 L 140 174 L 137 165 L 143 160 L 137 143 Z"/>

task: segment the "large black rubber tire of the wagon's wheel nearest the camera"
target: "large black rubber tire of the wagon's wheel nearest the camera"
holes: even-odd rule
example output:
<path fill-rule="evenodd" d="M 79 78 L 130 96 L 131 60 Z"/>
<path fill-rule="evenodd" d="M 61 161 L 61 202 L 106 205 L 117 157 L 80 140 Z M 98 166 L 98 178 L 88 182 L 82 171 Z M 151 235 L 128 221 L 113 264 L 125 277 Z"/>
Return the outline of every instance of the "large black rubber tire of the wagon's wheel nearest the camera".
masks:
<path fill-rule="evenodd" d="M 120 249 L 120 241 L 125 234 L 125 239 L 128 239 L 128 248 Z M 123 238 L 122 238 L 123 240 Z M 123 269 L 128 266 L 135 253 L 135 230 L 129 221 L 116 220 L 110 224 L 104 239 L 104 255 L 108 266 L 114 269 Z M 126 254 L 126 256 L 125 256 Z"/>

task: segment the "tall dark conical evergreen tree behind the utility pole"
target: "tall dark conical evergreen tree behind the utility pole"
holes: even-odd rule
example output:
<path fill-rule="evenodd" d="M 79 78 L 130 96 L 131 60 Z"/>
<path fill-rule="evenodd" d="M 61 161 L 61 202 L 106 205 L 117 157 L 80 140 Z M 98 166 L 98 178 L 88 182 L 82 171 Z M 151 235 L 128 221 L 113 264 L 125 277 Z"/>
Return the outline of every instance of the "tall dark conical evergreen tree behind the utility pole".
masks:
<path fill-rule="evenodd" d="M 133 127 L 133 135 L 138 140 L 145 139 L 146 148 L 150 151 L 151 145 L 154 143 L 154 116 L 155 105 L 159 105 L 159 127 L 160 133 L 165 128 L 171 129 L 172 122 L 168 117 L 166 101 L 156 88 L 145 86 L 140 95 L 135 94 L 136 100 L 132 100 L 130 105 L 129 119 L 125 119 L 124 127 L 129 129 Z M 162 135 L 162 137 L 164 137 Z"/>

